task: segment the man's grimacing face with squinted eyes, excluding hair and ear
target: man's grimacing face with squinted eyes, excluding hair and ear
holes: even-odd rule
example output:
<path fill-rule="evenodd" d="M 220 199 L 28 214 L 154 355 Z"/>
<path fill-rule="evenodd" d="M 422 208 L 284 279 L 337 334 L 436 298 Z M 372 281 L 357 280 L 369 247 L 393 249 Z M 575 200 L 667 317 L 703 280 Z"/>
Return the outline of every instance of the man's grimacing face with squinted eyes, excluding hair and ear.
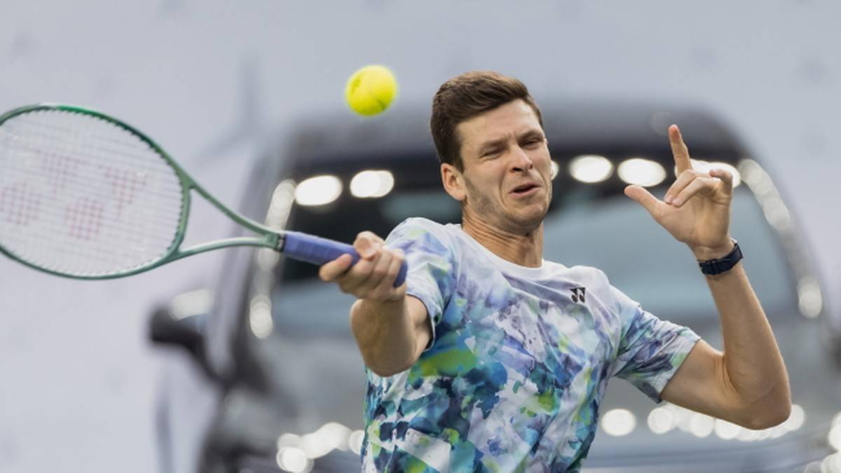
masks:
<path fill-rule="evenodd" d="M 515 100 L 463 121 L 456 131 L 464 211 L 511 233 L 537 229 L 552 199 L 552 160 L 532 107 Z"/>

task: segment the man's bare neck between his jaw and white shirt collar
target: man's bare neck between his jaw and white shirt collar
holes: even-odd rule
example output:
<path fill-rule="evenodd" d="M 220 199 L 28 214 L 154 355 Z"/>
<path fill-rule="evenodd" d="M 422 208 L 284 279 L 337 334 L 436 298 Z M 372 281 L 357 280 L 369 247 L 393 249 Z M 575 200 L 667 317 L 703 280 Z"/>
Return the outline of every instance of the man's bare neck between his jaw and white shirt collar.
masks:
<path fill-rule="evenodd" d="M 465 209 L 467 210 L 467 209 Z M 543 263 L 543 223 L 532 231 L 512 232 L 476 218 L 472 212 L 462 215 L 462 229 L 480 245 L 511 263 L 539 268 Z"/>

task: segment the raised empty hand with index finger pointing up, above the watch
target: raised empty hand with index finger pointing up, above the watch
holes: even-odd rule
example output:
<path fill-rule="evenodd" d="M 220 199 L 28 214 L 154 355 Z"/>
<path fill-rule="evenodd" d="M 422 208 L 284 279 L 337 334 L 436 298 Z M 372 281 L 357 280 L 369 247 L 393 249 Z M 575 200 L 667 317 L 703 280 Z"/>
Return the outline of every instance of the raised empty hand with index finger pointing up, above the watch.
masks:
<path fill-rule="evenodd" d="M 637 185 L 627 186 L 625 194 L 642 204 L 672 237 L 689 245 L 697 259 L 722 258 L 733 249 L 729 235 L 733 176 L 724 169 L 708 173 L 693 169 L 677 125 L 669 126 L 669 143 L 678 178 L 664 200 Z"/>

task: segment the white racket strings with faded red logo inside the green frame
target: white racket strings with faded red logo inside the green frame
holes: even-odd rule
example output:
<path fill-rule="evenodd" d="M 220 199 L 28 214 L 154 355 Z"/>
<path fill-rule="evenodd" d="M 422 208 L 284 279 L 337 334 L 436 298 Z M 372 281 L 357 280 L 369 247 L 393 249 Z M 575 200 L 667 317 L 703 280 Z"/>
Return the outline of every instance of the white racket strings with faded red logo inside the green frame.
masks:
<path fill-rule="evenodd" d="M 107 275 L 165 255 L 182 185 L 129 130 L 87 114 L 34 111 L 0 125 L 0 246 L 61 273 Z"/>

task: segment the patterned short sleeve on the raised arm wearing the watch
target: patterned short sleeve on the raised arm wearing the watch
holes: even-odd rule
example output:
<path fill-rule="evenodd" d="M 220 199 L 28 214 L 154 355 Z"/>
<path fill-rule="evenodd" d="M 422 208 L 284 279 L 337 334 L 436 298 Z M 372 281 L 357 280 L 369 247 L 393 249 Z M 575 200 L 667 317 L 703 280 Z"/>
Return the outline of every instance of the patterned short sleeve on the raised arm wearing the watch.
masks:
<path fill-rule="evenodd" d="M 654 402 L 701 339 L 688 327 L 660 320 L 611 285 L 616 314 L 621 317 L 621 340 L 611 375 L 635 385 Z"/>

